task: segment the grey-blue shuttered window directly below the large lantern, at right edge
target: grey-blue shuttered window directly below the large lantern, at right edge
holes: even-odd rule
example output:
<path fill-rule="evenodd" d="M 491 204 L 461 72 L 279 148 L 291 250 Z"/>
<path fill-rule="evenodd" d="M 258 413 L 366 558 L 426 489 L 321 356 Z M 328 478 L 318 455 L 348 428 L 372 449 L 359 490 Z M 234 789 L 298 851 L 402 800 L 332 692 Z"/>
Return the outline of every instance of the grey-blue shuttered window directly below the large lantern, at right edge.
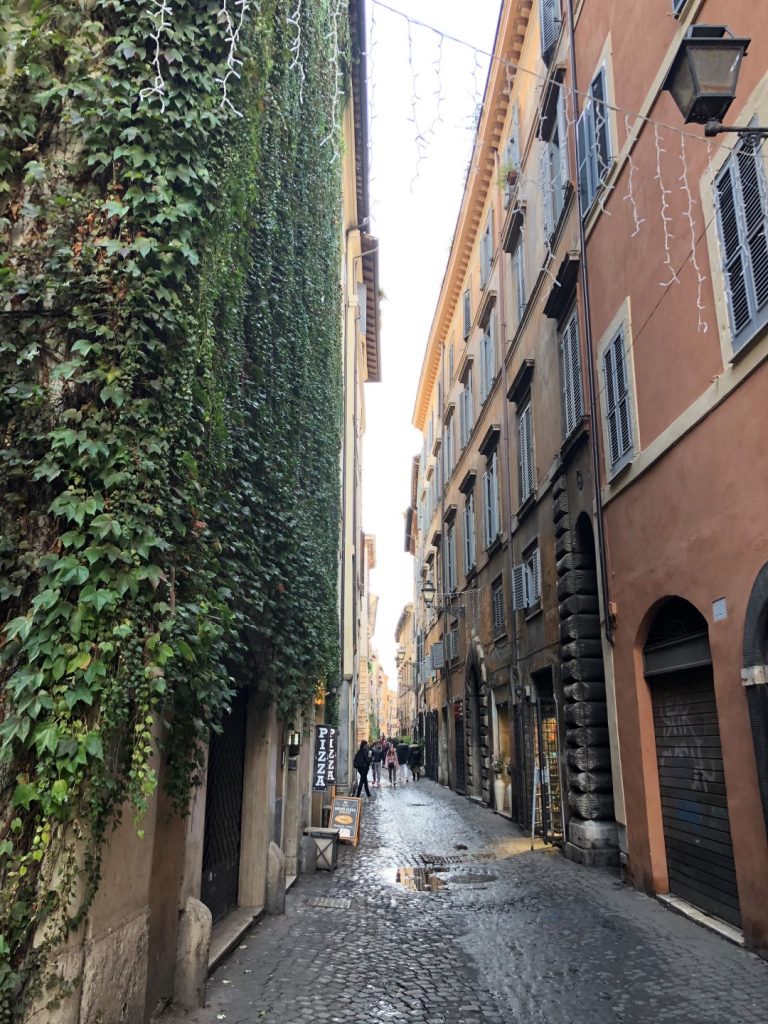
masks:
<path fill-rule="evenodd" d="M 733 350 L 768 323 L 768 182 L 760 142 L 744 138 L 715 182 Z"/>

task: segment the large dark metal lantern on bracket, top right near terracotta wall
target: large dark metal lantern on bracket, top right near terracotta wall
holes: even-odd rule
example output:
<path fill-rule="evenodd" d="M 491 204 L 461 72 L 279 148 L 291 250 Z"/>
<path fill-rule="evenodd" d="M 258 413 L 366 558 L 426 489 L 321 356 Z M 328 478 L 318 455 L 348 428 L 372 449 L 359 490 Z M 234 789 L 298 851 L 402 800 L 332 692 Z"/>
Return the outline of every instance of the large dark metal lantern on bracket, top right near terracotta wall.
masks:
<path fill-rule="evenodd" d="M 686 124 L 706 125 L 708 136 L 723 131 L 768 134 L 765 128 L 726 128 L 721 123 L 735 99 L 741 59 L 750 42 L 734 38 L 724 25 L 694 25 L 688 30 L 664 83 Z"/>

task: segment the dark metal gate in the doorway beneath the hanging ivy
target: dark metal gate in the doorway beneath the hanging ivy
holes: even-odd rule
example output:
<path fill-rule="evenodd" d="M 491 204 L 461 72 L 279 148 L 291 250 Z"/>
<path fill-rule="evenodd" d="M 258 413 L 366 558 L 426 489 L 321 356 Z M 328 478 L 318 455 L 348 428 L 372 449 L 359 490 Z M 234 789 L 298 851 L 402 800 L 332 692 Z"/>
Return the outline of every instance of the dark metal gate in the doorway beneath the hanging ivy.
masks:
<path fill-rule="evenodd" d="M 214 923 L 238 905 L 247 710 L 248 697 L 241 692 L 224 718 L 221 733 L 212 733 L 208 746 L 200 898 Z"/>

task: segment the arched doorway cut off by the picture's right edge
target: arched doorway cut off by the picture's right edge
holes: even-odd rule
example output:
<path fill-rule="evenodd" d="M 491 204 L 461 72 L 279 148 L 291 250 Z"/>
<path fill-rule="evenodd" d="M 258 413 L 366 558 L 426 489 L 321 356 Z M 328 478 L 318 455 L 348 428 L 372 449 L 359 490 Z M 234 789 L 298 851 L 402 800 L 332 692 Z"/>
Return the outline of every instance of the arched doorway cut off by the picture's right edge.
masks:
<path fill-rule="evenodd" d="M 768 830 L 768 564 L 758 573 L 746 605 L 743 655 L 744 692 Z"/>

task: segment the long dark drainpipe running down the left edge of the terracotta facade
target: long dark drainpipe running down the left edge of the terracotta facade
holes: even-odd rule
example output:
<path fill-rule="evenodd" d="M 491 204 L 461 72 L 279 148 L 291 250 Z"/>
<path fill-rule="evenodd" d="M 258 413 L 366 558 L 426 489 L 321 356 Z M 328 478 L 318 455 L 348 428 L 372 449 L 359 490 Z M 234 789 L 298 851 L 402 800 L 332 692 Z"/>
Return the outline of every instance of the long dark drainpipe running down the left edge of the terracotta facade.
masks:
<path fill-rule="evenodd" d="M 577 65 L 575 65 L 575 29 L 573 26 L 573 0 L 568 0 L 568 32 L 569 32 L 569 45 L 570 45 L 570 74 L 571 83 L 573 91 L 571 93 L 571 101 L 573 105 L 573 124 L 579 122 L 579 79 L 577 75 Z M 598 558 L 600 559 L 600 582 L 603 591 L 603 607 L 605 609 L 605 639 L 609 644 L 613 643 L 613 626 L 611 623 L 610 611 L 610 591 L 608 582 L 608 565 L 607 557 L 605 552 L 605 514 L 603 511 L 603 500 L 600 493 L 600 449 L 597 440 L 597 427 L 599 420 L 599 409 L 597 401 L 597 387 L 595 382 L 595 364 L 594 364 L 594 346 L 592 338 L 592 312 L 590 303 L 590 285 L 589 285 L 589 268 L 587 265 L 587 238 L 584 230 L 584 214 L 586 210 L 583 206 L 584 197 L 582 196 L 581 181 L 579 178 L 579 145 L 577 139 L 577 174 L 575 174 L 575 190 L 579 205 L 579 248 L 581 250 L 581 260 L 580 260 L 580 274 L 582 282 L 582 298 L 584 300 L 584 327 L 585 327 L 585 346 L 587 349 L 587 389 L 589 391 L 589 403 L 590 403 L 590 418 L 592 420 L 592 429 L 590 430 L 590 447 L 592 450 L 592 476 L 593 476 L 593 486 L 594 486 L 594 499 L 595 499 L 595 509 L 597 515 L 595 517 L 595 522 L 597 525 L 597 552 Z"/>

